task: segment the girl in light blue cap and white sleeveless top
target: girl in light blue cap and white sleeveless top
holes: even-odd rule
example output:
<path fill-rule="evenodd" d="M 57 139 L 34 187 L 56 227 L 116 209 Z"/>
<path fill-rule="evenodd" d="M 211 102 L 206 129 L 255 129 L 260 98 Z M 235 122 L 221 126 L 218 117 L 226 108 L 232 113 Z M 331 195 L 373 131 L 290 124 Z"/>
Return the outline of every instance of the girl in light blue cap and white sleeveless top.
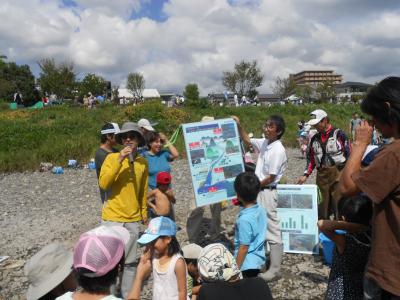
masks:
<path fill-rule="evenodd" d="M 176 235 L 176 224 L 167 217 L 150 221 L 138 243 L 146 245 L 138 266 L 138 273 L 128 299 L 140 299 L 140 283 L 144 280 L 142 269 L 152 266 L 153 300 L 189 300 L 187 294 L 187 268 Z M 139 276 L 138 276 L 139 275 Z"/>

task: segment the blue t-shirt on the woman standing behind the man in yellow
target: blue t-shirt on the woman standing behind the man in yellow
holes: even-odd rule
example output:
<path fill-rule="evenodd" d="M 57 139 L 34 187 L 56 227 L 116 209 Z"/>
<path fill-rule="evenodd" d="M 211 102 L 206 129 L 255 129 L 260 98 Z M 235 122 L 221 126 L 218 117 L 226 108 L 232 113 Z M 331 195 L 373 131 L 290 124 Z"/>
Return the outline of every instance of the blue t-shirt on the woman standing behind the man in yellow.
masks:
<path fill-rule="evenodd" d="M 157 188 L 157 174 L 159 172 L 171 173 L 171 153 L 168 150 L 161 150 L 156 155 L 146 151 L 143 153 L 143 157 L 147 159 L 149 163 L 149 187 L 154 190 Z"/>

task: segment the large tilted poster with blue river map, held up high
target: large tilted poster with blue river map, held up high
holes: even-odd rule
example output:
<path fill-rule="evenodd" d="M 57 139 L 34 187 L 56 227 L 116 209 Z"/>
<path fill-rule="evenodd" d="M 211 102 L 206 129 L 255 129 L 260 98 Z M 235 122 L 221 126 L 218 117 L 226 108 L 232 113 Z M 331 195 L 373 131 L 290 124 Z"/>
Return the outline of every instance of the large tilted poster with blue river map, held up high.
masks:
<path fill-rule="evenodd" d="M 235 121 L 190 123 L 182 128 L 196 205 L 236 198 L 233 182 L 244 164 Z"/>

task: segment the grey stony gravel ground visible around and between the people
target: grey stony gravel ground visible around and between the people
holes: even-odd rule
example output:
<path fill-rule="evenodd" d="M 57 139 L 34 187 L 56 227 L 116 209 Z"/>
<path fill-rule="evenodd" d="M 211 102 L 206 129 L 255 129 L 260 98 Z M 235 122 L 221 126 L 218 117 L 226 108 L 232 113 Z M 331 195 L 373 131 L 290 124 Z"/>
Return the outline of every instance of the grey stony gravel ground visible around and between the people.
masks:
<path fill-rule="evenodd" d="M 304 170 L 305 161 L 297 149 L 287 149 L 287 183 L 294 183 Z M 173 185 L 177 203 L 176 219 L 182 228 L 177 234 L 181 246 L 188 243 L 185 231 L 193 199 L 189 167 L 184 159 L 173 163 Z M 309 183 L 314 182 L 309 179 Z M 94 171 L 67 169 L 62 175 L 25 172 L 0 175 L 0 299 L 25 299 L 27 278 L 23 265 L 43 246 L 58 241 L 72 249 L 79 235 L 100 224 L 101 202 Z M 222 212 L 224 240 L 232 241 L 237 207 Z M 204 232 L 210 212 L 205 210 Z M 209 242 L 206 238 L 204 244 Z M 270 283 L 276 299 L 321 299 L 326 290 L 329 268 L 321 256 L 285 254 L 283 276 Z M 151 299 L 151 281 L 143 299 Z"/>

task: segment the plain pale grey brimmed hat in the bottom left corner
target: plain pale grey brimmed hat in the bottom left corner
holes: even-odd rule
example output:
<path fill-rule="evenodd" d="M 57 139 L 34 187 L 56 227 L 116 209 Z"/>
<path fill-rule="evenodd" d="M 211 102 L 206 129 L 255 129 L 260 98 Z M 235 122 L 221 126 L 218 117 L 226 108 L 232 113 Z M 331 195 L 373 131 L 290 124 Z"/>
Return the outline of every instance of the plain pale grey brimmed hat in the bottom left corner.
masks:
<path fill-rule="evenodd" d="M 25 264 L 28 277 L 28 300 L 36 300 L 57 287 L 72 272 L 72 252 L 52 243 L 32 256 Z"/>

